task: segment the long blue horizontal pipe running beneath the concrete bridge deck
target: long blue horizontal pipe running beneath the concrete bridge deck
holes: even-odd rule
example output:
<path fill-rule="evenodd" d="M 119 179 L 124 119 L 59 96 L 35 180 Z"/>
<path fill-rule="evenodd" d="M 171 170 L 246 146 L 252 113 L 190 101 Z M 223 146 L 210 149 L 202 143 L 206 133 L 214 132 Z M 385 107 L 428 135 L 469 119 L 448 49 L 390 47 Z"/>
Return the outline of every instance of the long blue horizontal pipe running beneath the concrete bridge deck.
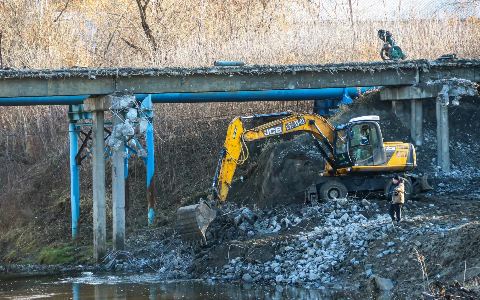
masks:
<path fill-rule="evenodd" d="M 363 89 L 363 88 L 362 88 Z M 369 89 L 369 88 L 368 88 Z M 152 103 L 204 103 L 204 102 L 248 102 L 248 101 L 285 101 L 285 100 L 324 100 L 344 95 L 345 88 L 312 88 L 287 90 L 254 90 L 254 91 L 222 91 L 222 92 L 190 92 L 152 94 Z M 348 95 L 353 98 L 358 88 L 347 88 Z M 366 91 L 366 90 L 365 90 Z M 146 94 L 135 95 L 141 101 Z M 77 105 L 82 104 L 82 96 L 58 97 L 20 97 L 0 98 L 0 106 L 30 106 L 30 105 Z"/>

